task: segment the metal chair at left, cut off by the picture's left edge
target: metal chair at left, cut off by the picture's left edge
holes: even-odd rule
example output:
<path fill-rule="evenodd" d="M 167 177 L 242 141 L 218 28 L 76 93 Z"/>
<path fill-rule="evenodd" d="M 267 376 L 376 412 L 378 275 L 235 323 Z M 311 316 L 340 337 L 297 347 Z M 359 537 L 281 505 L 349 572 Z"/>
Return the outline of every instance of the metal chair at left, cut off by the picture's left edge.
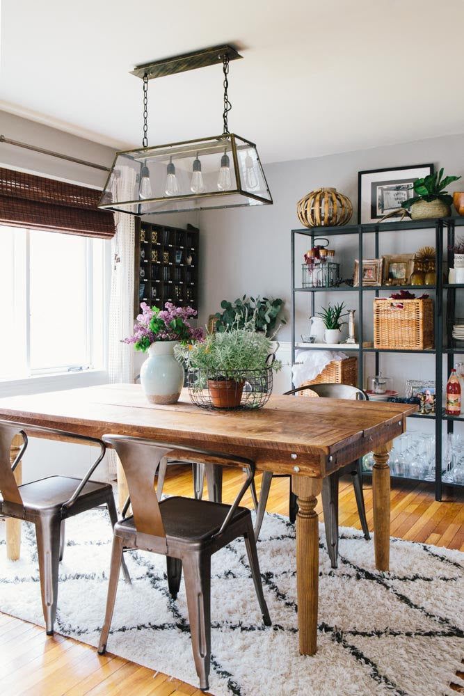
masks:
<path fill-rule="evenodd" d="M 95 445 L 99 454 L 83 479 L 68 476 L 48 476 L 38 481 L 18 486 L 13 472 L 21 461 L 28 444 L 28 435 L 41 434 L 56 438 Z M 13 438 L 23 439 L 13 464 L 10 463 L 10 446 Z M 46 427 L 30 426 L 12 421 L 0 421 L 0 515 L 14 517 L 35 525 L 39 561 L 40 592 L 47 635 L 53 635 L 58 599 L 58 565 L 63 558 L 65 545 L 65 521 L 68 517 L 106 505 L 111 524 L 118 521 L 111 484 L 91 481 L 105 453 L 101 440 Z M 130 583 L 129 573 L 123 564 L 123 573 Z"/>

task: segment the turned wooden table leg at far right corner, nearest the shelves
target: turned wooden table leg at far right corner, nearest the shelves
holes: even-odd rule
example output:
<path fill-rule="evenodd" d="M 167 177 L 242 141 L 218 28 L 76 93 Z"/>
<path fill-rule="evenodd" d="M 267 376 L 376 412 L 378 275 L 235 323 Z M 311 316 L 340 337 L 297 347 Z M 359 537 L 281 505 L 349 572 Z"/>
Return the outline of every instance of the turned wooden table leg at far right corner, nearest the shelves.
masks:
<path fill-rule="evenodd" d="M 378 445 L 374 452 L 372 495 L 374 497 L 374 548 L 376 569 L 390 569 L 390 466 L 392 443 Z"/>

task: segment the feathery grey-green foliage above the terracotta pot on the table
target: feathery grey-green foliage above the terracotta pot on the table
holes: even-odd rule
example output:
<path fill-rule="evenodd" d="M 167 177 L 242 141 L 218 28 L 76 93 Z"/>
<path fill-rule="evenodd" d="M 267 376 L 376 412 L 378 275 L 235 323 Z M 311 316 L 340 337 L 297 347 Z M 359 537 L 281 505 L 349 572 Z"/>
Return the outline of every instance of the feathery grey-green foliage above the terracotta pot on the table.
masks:
<path fill-rule="evenodd" d="M 239 372 L 271 370 L 278 372 L 278 360 L 268 365 L 272 342 L 264 333 L 232 326 L 220 333 L 207 333 L 201 343 L 179 345 L 177 357 L 182 358 L 190 372 L 199 372 L 200 379 L 236 379 Z"/>

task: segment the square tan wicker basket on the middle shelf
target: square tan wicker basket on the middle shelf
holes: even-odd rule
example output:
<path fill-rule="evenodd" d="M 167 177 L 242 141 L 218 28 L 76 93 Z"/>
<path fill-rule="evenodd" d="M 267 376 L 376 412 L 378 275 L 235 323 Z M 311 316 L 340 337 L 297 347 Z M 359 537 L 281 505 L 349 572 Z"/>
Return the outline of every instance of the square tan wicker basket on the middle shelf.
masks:
<path fill-rule="evenodd" d="M 374 299 L 374 348 L 433 348 L 433 302 Z"/>

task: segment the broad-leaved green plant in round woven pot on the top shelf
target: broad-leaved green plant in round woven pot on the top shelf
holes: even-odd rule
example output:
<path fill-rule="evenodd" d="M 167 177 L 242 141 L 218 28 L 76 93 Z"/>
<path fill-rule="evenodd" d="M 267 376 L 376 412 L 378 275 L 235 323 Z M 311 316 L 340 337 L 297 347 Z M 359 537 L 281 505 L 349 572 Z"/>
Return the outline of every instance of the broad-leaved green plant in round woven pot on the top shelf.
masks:
<path fill-rule="evenodd" d="M 445 189 L 448 184 L 458 179 L 461 179 L 461 177 L 443 177 L 443 168 L 441 168 L 438 173 L 435 172 L 423 179 L 415 180 L 413 187 L 416 195 L 405 200 L 403 208 L 410 208 L 413 220 L 448 217 L 451 215 L 453 198 Z"/>

